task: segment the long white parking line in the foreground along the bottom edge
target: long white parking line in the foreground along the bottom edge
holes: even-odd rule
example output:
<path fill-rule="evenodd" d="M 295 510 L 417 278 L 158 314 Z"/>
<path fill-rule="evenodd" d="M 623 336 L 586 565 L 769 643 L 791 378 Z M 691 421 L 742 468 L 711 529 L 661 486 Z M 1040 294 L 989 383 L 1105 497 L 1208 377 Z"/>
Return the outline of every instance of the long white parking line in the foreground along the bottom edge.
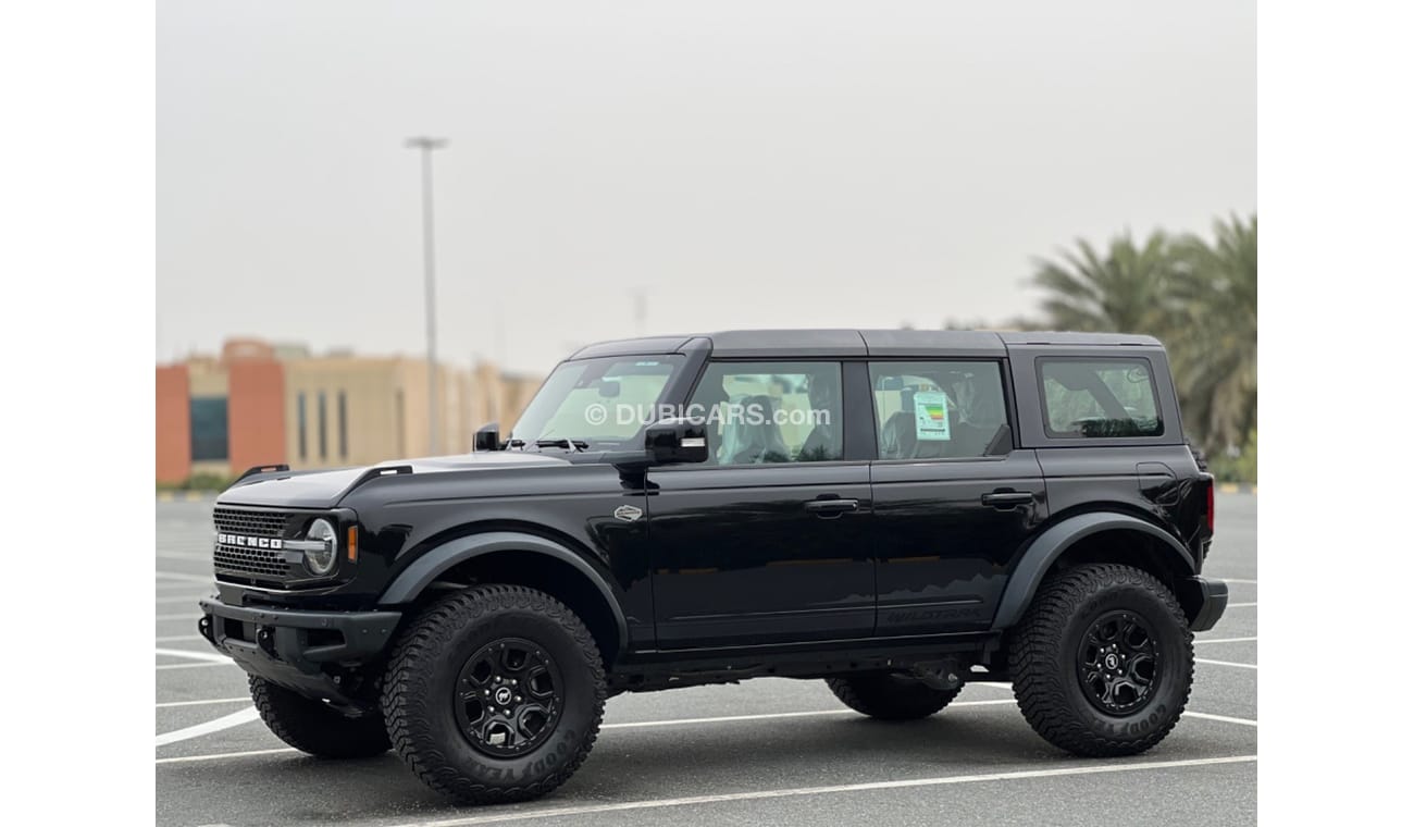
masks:
<path fill-rule="evenodd" d="M 819 787 L 788 787 L 776 790 L 751 790 L 745 793 L 720 793 L 714 796 L 687 796 L 682 799 L 650 799 L 643 802 L 621 802 L 612 804 L 575 804 L 567 807 L 544 807 L 542 810 L 522 810 L 519 813 L 489 813 L 485 816 L 471 816 L 467 819 L 450 819 L 445 821 L 416 821 L 400 827 L 462 827 L 467 824 L 495 824 L 501 821 L 523 821 L 530 819 L 556 819 L 563 816 L 587 816 L 590 813 L 624 813 L 631 810 L 649 810 L 662 807 L 687 807 L 694 804 L 715 804 L 723 802 L 754 802 L 762 799 L 785 799 L 795 796 L 823 796 L 837 793 L 860 793 L 870 790 L 896 790 L 909 787 L 932 787 L 943 785 L 966 785 L 978 782 L 1022 780 L 1034 778 L 1058 778 L 1070 775 L 1099 775 L 1109 772 L 1140 772 L 1154 769 L 1176 769 L 1182 766 L 1210 766 L 1217 763 L 1249 763 L 1257 761 L 1256 755 L 1233 755 L 1226 758 L 1192 758 L 1186 761 L 1147 761 L 1131 763 L 1102 763 L 1066 766 L 1058 769 L 1031 769 L 1021 772 L 993 772 L 986 775 L 949 775 L 940 778 L 918 778 L 906 780 L 868 782 L 857 785 L 829 785 Z"/>

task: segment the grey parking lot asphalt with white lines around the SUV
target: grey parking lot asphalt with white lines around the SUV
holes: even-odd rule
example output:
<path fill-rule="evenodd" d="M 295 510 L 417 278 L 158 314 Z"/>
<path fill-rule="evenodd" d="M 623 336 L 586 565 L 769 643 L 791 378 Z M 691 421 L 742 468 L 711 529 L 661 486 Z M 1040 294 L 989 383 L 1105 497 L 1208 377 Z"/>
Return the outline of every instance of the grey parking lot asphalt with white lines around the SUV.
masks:
<path fill-rule="evenodd" d="M 1010 687 L 881 722 L 823 681 L 758 679 L 611 698 L 588 761 L 537 802 L 455 807 L 392 753 L 320 761 L 255 717 L 245 673 L 197 635 L 211 502 L 157 503 L 158 824 L 1143 824 L 1257 819 L 1257 496 L 1217 495 L 1205 574 L 1232 602 L 1198 636 L 1174 732 L 1126 759 L 1035 735 Z"/>

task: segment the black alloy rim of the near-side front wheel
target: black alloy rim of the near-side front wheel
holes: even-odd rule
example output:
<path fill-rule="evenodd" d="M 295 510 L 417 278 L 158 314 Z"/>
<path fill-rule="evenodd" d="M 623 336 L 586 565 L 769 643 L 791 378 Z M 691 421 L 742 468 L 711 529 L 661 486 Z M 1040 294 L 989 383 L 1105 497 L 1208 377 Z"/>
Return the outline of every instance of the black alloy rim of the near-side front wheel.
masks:
<path fill-rule="evenodd" d="M 554 732 L 564 710 L 564 680 L 539 643 L 501 638 L 467 659 L 457 676 L 457 727 L 493 758 L 530 752 Z"/>

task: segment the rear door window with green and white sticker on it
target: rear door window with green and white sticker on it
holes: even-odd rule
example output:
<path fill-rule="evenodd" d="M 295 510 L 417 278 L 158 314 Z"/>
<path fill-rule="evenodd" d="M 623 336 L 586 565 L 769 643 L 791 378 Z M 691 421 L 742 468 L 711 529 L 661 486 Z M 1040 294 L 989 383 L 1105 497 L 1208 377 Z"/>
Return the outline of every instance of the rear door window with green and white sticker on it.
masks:
<path fill-rule="evenodd" d="M 880 459 L 969 459 L 1011 451 L 998 362 L 872 362 Z"/>

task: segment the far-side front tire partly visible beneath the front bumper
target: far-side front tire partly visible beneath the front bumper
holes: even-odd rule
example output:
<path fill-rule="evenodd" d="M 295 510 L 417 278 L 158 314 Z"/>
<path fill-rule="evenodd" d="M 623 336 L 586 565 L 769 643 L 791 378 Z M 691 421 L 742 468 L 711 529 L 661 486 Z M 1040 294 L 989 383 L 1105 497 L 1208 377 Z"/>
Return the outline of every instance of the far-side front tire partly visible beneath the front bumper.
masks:
<path fill-rule="evenodd" d="M 311 700 L 250 676 L 250 700 L 260 720 L 280 741 L 320 758 L 372 758 L 392 748 L 378 711 L 351 718 Z"/>

